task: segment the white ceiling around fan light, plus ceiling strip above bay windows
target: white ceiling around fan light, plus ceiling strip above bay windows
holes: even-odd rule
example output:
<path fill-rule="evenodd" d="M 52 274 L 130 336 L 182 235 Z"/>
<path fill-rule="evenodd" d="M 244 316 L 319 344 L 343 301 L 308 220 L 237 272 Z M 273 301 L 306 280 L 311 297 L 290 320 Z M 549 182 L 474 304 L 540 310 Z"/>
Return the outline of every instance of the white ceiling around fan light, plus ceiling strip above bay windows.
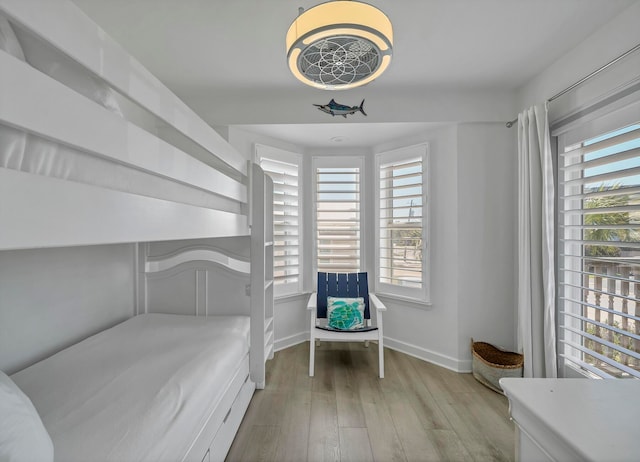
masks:
<path fill-rule="evenodd" d="M 178 95 L 212 100 L 228 93 L 249 98 L 258 91 L 305 91 L 287 69 L 284 36 L 298 7 L 321 1 L 74 0 Z M 369 0 L 394 27 L 391 66 L 369 86 L 377 92 L 515 90 L 635 1 Z M 267 97 L 260 100 L 256 104 L 273 104 Z M 340 131 L 331 130 L 340 127 L 331 122 L 322 129 L 303 123 L 254 128 L 285 141 L 335 147 L 330 138 L 354 142 L 370 125 L 342 124 Z M 402 125 L 375 124 L 368 136 L 416 128 Z"/>

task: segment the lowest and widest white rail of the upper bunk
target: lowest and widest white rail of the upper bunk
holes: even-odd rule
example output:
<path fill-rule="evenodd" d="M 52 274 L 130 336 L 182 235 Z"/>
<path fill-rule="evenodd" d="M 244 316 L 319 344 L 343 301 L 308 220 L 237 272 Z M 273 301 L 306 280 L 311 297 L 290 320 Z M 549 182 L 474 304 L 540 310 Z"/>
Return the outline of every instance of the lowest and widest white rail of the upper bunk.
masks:
<path fill-rule="evenodd" d="M 0 169 L 0 223 L 6 250 L 228 236 L 246 217 Z"/>

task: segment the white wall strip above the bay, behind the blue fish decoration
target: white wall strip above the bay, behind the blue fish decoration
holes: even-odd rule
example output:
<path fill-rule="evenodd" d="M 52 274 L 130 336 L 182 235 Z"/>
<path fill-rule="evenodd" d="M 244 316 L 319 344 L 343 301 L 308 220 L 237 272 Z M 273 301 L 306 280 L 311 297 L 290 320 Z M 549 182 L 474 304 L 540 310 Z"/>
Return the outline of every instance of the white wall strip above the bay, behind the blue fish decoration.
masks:
<path fill-rule="evenodd" d="M 335 96 L 323 90 L 265 92 L 233 89 L 224 95 L 185 96 L 185 101 L 212 125 L 335 123 L 313 104 L 326 104 Z M 343 101 L 345 95 L 335 96 Z M 505 122 L 514 116 L 512 89 L 394 88 L 382 92 L 375 82 L 349 90 L 348 101 L 366 100 L 367 122 Z M 344 101 L 343 101 L 344 102 Z M 357 120 L 357 119 L 354 119 Z M 350 120 L 344 123 L 357 123 Z M 230 137 L 231 141 L 231 137 Z M 233 142 L 232 142 L 233 144 Z"/>

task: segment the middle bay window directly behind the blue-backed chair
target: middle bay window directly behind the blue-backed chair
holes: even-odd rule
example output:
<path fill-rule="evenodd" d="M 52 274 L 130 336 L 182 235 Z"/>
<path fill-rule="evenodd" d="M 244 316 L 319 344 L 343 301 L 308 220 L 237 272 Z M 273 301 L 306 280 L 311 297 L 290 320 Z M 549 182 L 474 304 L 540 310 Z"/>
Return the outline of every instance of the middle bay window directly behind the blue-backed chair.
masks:
<path fill-rule="evenodd" d="M 314 171 L 317 270 L 338 273 L 361 271 L 361 161 L 316 158 Z"/>

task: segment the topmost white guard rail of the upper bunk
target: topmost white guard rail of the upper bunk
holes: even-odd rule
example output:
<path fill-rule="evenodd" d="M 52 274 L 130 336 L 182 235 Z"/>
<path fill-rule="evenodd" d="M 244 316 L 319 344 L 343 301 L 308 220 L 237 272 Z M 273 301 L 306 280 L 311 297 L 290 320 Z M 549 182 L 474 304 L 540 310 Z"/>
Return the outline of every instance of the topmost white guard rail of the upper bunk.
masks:
<path fill-rule="evenodd" d="M 139 104 L 233 170 L 234 148 L 69 0 L 0 0 L 0 12 Z"/>

